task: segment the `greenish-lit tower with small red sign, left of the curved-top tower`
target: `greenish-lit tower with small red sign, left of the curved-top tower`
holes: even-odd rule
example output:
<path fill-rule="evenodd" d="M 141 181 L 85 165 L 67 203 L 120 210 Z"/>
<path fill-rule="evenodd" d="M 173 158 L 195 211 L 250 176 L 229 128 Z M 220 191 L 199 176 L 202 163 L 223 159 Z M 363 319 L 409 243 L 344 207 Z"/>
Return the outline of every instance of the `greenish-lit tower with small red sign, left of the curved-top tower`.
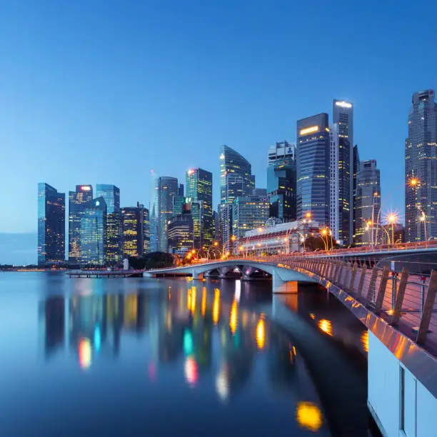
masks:
<path fill-rule="evenodd" d="M 204 169 L 186 172 L 186 198 L 193 206 L 194 247 L 211 246 L 214 241 L 212 208 L 212 173 Z"/>

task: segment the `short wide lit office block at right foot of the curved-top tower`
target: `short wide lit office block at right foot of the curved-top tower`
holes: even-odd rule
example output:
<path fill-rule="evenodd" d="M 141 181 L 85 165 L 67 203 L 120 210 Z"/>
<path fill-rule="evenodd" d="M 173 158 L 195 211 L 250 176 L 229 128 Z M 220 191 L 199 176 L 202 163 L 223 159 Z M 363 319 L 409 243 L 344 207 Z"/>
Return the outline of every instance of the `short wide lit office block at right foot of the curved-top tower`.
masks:
<path fill-rule="evenodd" d="M 233 201 L 233 235 L 243 238 L 246 231 L 263 227 L 268 220 L 270 204 L 266 196 L 237 197 Z"/>

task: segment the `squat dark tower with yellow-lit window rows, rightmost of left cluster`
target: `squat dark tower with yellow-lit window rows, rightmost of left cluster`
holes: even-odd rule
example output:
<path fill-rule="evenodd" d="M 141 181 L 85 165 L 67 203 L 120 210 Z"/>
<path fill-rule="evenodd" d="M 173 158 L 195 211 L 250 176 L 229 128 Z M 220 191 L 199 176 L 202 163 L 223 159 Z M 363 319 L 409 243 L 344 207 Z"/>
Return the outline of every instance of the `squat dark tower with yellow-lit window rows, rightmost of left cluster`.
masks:
<path fill-rule="evenodd" d="M 142 256 L 150 246 L 149 210 L 136 206 L 121 210 L 123 222 L 123 256 Z"/>

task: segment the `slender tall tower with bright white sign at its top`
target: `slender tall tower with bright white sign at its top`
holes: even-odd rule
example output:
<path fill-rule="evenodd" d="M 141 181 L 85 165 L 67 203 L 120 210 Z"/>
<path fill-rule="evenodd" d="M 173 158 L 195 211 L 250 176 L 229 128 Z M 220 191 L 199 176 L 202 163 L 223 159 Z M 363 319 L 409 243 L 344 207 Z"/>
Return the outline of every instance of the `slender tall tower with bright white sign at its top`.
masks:
<path fill-rule="evenodd" d="M 330 129 L 329 227 L 343 244 L 353 238 L 353 104 L 333 101 Z"/>

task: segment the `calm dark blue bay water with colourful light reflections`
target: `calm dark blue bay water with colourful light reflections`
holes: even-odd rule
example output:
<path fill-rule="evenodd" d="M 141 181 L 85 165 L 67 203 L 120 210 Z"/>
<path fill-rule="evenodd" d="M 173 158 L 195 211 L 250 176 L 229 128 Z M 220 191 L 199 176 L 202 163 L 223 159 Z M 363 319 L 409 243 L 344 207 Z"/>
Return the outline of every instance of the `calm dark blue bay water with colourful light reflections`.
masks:
<path fill-rule="evenodd" d="M 336 435 L 344 399 L 306 339 L 345 363 L 364 331 L 308 291 L 272 303 L 266 282 L 0 273 L 0 436 Z M 278 305 L 295 333 L 270 321 Z"/>

